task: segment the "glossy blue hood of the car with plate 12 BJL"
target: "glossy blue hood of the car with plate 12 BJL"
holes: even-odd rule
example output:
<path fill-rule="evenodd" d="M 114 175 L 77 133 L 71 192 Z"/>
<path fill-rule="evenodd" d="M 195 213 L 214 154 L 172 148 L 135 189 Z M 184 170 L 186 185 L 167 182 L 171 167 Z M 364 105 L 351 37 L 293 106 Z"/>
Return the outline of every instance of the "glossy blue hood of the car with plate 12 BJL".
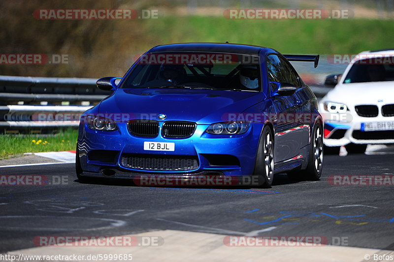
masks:
<path fill-rule="evenodd" d="M 185 89 L 118 89 L 99 104 L 100 114 L 127 113 L 134 119 L 193 121 L 212 124 L 228 113 L 241 113 L 262 102 L 258 92 Z"/>

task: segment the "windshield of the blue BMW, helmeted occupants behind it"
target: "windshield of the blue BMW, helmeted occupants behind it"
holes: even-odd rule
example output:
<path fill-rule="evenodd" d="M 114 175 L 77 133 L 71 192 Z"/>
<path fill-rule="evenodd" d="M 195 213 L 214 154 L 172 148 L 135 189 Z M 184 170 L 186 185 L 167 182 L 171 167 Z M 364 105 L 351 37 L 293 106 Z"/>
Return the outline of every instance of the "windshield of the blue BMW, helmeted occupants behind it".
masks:
<path fill-rule="evenodd" d="M 121 88 L 261 91 L 259 58 L 224 53 L 144 55 Z"/>

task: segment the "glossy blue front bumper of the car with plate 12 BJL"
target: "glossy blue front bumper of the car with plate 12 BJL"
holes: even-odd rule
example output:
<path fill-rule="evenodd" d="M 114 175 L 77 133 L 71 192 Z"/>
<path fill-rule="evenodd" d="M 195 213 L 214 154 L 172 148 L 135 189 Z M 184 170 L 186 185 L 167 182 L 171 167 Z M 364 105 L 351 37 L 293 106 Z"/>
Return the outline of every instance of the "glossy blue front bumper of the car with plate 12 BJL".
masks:
<path fill-rule="evenodd" d="M 160 124 L 162 125 L 162 123 Z M 191 137 L 183 139 L 164 138 L 160 134 L 155 138 L 136 137 L 127 130 L 126 123 L 119 123 L 116 131 L 95 131 L 86 125 L 79 128 L 79 162 L 85 176 L 133 178 L 138 175 L 199 175 L 250 176 L 253 174 L 255 158 L 263 124 L 253 124 L 244 134 L 212 135 L 205 132 L 208 125 L 197 125 Z M 173 142 L 175 151 L 147 151 L 144 141 Z M 104 158 L 92 159 L 94 150 L 100 150 Z M 105 153 L 108 154 L 105 157 Z M 197 160 L 197 166 L 187 170 L 158 170 L 148 168 L 130 168 L 122 162 L 125 156 L 138 158 L 164 157 L 191 158 Z M 110 171 L 113 170 L 113 171 Z"/>

